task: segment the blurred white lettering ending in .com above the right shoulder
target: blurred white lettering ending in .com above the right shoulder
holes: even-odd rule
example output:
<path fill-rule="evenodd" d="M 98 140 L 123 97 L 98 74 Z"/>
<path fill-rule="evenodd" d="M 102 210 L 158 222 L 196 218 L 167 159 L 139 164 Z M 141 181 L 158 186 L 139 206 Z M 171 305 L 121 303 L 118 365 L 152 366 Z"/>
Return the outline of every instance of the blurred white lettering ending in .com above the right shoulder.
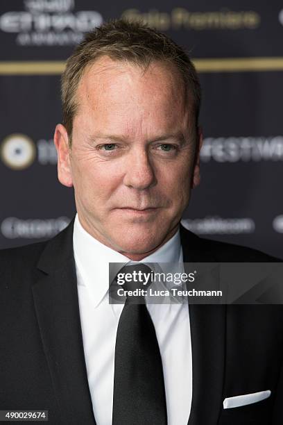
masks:
<path fill-rule="evenodd" d="M 198 235 L 223 235 L 253 233 L 255 222 L 250 218 L 205 217 L 203 219 L 182 219 L 182 225 Z"/>

